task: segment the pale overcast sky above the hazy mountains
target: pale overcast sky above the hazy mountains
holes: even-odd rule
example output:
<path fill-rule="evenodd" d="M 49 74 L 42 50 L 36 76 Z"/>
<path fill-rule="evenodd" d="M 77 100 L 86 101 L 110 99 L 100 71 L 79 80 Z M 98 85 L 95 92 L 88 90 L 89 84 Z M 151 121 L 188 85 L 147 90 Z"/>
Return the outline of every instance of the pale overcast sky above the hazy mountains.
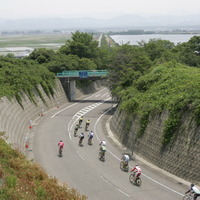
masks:
<path fill-rule="evenodd" d="M 200 14 L 200 0 L 0 0 L 0 19 Z"/>

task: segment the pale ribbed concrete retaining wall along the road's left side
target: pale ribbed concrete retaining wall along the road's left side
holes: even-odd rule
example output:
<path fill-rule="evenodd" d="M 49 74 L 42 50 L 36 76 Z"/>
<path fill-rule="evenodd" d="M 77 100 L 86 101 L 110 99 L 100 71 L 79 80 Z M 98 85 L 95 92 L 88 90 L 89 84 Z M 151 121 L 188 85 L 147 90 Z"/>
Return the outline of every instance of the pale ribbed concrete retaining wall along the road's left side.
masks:
<path fill-rule="evenodd" d="M 90 87 L 77 89 L 75 88 L 75 83 L 73 83 L 73 90 L 76 90 L 73 98 L 80 98 L 87 94 L 88 91 L 92 93 L 102 84 L 101 81 L 97 81 Z M 34 127 L 47 112 L 59 109 L 62 105 L 69 103 L 66 91 L 60 80 L 56 81 L 53 97 L 48 97 L 42 87 L 39 87 L 39 89 L 45 99 L 45 103 L 37 93 L 35 97 L 37 105 L 31 102 L 24 94 L 23 108 L 16 99 L 8 100 L 6 97 L 0 99 L 0 132 L 5 133 L 4 138 L 14 149 L 23 152 L 30 159 L 33 159 L 29 151 L 32 145 L 32 137 L 34 136 Z M 28 145 L 28 148 L 26 145 Z"/>

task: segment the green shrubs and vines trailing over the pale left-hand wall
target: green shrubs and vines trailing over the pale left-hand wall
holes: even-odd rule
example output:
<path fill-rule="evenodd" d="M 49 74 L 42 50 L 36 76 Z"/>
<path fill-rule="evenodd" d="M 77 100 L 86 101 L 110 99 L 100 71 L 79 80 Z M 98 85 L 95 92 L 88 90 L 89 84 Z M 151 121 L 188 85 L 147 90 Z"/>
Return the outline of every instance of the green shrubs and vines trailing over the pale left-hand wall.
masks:
<path fill-rule="evenodd" d="M 55 75 L 46 67 L 29 60 L 0 56 L 0 97 L 16 98 L 22 105 L 24 93 L 37 104 L 35 91 L 45 103 L 38 88 L 41 85 L 50 97 L 54 95 Z"/>

